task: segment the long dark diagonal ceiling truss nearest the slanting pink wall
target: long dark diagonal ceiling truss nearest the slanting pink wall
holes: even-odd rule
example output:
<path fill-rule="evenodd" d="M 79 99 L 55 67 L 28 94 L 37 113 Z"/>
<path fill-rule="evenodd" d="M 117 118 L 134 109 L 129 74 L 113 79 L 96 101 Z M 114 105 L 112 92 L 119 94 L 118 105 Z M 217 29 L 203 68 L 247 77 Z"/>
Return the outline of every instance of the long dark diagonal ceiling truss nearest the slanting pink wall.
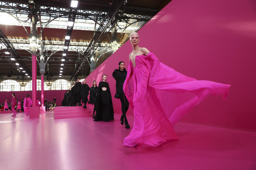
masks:
<path fill-rule="evenodd" d="M 112 5 L 110 6 L 108 12 L 106 13 L 105 17 L 102 19 L 101 24 L 99 25 L 99 28 L 95 32 L 93 39 L 91 40 L 89 46 L 85 50 L 82 58 L 80 59 L 77 67 L 74 70 L 74 73 L 72 74 L 70 78 L 70 82 L 74 80 L 78 74 L 80 73 L 82 69 L 82 65 L 88 61 L 90 63 L 91 56 L 93 56 L 95 50 L 98 48 L 98 46 L 101 44 L 101 42 L 105 39 L 111 28 L 115 25 L 115 23 L 118 22 L 120 16 L 122 16 L 123 11 L 125 8 L 129 5 L 129 2 L 126 0 L 114 0 Z M 122 5 L 125 5 L 124 10 L 119 10 Z"/>

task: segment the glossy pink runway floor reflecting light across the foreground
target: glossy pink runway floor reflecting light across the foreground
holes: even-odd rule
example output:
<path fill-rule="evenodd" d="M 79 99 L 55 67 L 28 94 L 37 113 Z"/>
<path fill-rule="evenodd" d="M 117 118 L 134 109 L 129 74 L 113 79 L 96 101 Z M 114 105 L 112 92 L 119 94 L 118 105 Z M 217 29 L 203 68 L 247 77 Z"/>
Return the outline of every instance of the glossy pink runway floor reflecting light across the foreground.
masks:
<path fill-rule="evenodd" d="M 123 147 L 131 129 L 90 117 L 54 120 L 0 114 L 0 169 L 256 169 L 256 133 L 178 123 L 179 140 L 157 148 Z M 133 117 L 128 116 L 133 125 Z"/>

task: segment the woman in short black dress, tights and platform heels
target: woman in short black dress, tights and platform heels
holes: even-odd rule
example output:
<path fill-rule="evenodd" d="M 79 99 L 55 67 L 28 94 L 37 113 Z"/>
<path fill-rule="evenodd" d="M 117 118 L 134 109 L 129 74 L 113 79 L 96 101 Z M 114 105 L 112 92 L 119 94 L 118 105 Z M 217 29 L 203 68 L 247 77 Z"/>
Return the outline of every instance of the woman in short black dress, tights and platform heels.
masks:
<path fill-rule="evenodd" d="M 126 112 L 129 108 L 129 102 L 123 93 L 123 83 L 125 82 L 127 71 L 125 69 L 125 63 L 123 61 L 120 61 L 118 64 L 119 69 L 115 69 L 112 76 L 116 80 L 115 87 L 116 87 L 116 93 L 115 98 L 120 99 L 122 104 L 122 116 L 120 118 L 121 124 L 123 125 L 123 120 L 125 120 L 125 128 L 130 129 L 130 125 L 128 124 L 127 118 L 126 118 Z"/>

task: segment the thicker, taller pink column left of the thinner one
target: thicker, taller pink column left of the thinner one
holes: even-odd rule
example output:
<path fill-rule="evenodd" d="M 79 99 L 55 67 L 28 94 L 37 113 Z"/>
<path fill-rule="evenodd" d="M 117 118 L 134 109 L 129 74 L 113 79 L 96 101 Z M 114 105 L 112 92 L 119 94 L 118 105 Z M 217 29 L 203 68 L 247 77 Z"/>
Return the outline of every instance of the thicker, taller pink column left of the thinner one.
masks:
<path fill-rule="evenodd" d="M 37 56 L 32 54 L 32 106 L 37 106 Z"/>

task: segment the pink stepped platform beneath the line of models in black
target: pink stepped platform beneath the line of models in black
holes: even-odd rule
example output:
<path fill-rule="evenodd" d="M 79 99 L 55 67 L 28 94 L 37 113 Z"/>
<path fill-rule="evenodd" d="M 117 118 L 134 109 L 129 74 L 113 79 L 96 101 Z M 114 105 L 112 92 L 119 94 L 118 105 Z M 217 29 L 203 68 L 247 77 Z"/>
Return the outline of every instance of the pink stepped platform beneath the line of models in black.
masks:
<path fill-rule="evenodd" d="M 93 108 L 91 104 L 84 109 L 83 106 L 62 106 L 54 108 L 54 119 L 92 117 Z"/>

